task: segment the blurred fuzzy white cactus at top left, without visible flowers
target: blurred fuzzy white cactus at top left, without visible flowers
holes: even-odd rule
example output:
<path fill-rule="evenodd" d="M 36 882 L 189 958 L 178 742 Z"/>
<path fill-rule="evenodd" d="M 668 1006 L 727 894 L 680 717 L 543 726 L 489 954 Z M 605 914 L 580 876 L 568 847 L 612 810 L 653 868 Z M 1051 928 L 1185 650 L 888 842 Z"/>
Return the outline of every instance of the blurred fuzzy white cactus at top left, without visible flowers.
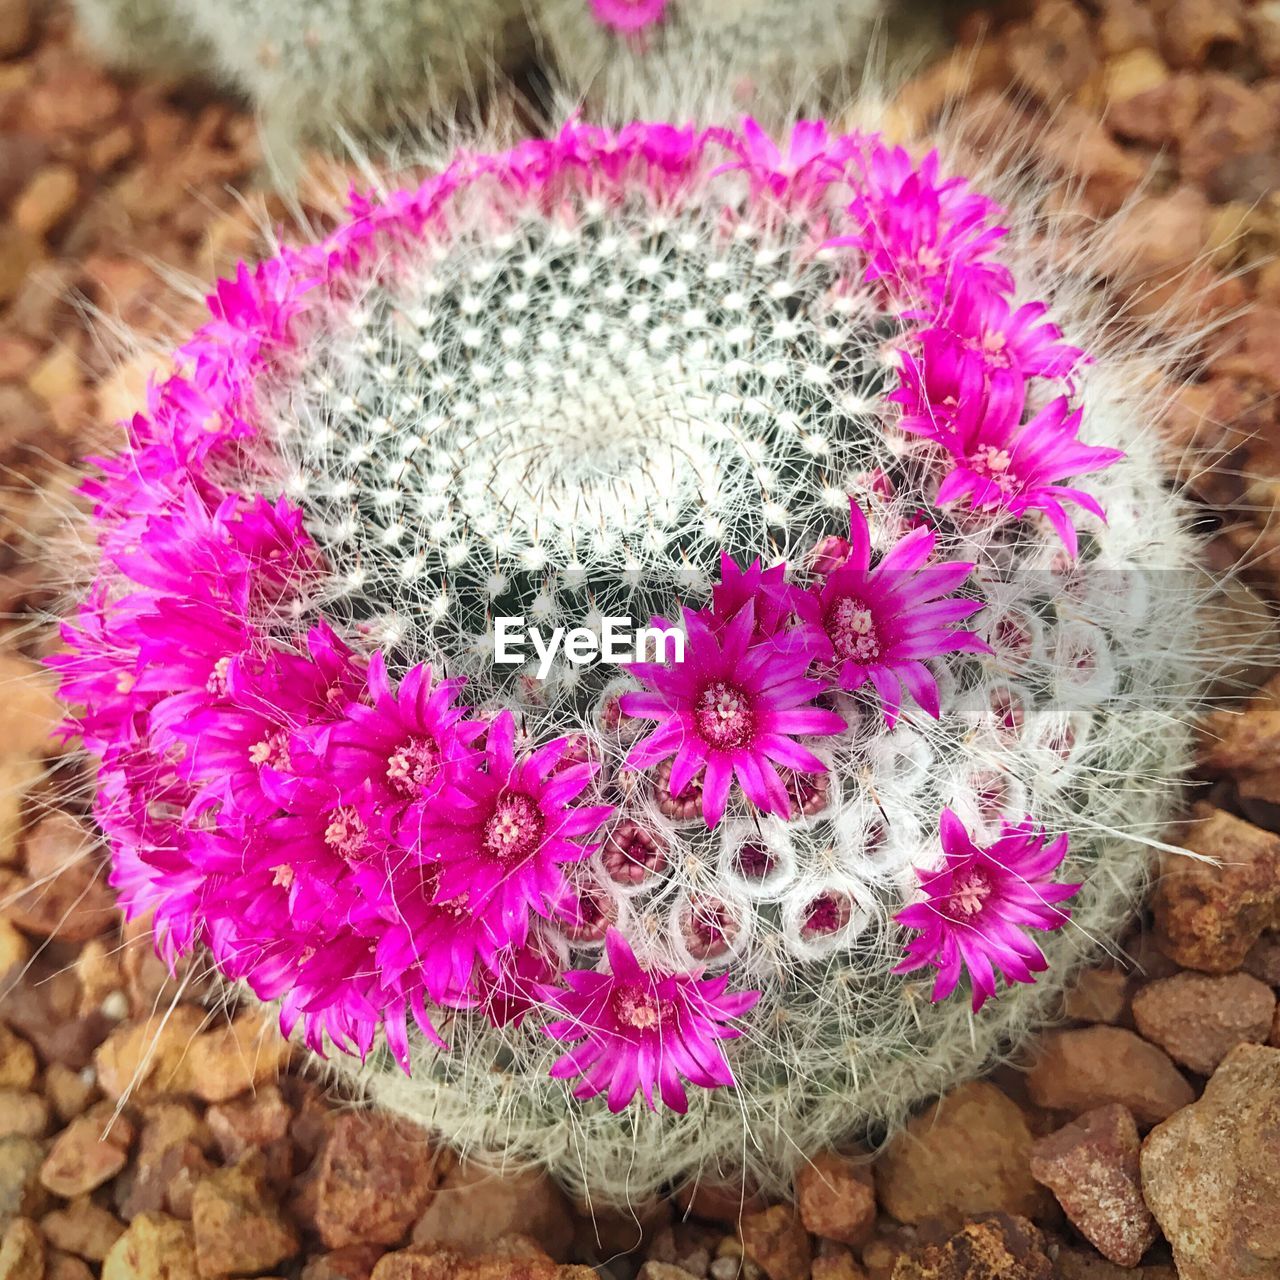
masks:
<path fill-rule="evenodd" d="M 288 177 L 303 142 L 452 114 L 527 46 L 524 0 L 77 0 L 91 38 L 129 65 L 204 70 L 257 109 Z M 180 55 L 174 64 L 174 58 Z"/>

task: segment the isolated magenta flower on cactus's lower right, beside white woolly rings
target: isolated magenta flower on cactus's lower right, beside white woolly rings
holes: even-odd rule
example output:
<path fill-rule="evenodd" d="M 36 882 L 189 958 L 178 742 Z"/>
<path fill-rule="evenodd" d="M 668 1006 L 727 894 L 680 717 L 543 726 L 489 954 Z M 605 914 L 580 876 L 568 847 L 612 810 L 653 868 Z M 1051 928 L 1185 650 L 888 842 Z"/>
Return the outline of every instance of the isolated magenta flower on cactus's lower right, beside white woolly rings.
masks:
<path fill-rule="evenodd" d="M 973 983 L 977 1012 L 996 995 L 996 973 L 1006 982 L 1034 982 L 1033 973 L 1048 968 L 1027 929 L 1052 932 L 1071 913 L 1057 906 L 1079 884 L 1059 884 L 1053 872 L 1066 858 L 1068 837 L 1050 840 L 1030 818 L 1005 822 L 1000 838 L 988 849 L 973 842 L 964 823 L 950 810 L 940 822 L 943 865 L 916 869 L 925 899 L 893 916 L 919 931 L 906 947 L 906 959 L 893 970 L 911 973 L 933 965 L 934 1002 L 946 1000 L 960 982 L 961 969 Z"/>

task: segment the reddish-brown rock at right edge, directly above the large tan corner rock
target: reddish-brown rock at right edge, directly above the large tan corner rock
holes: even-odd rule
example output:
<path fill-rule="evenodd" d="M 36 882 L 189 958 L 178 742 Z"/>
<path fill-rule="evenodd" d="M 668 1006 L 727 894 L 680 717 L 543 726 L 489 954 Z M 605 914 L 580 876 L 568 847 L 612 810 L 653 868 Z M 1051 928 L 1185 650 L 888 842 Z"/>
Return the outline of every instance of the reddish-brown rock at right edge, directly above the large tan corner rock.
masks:
<path fill-rule="evenodd" d="M 1179 973 L 1133 997 L 1138 1030 L 1198 1075 L 1212 1075 L 1236 1044 L 1266 1041 L 1275 1007 L 1271 988 L 1247 973 Z"/>

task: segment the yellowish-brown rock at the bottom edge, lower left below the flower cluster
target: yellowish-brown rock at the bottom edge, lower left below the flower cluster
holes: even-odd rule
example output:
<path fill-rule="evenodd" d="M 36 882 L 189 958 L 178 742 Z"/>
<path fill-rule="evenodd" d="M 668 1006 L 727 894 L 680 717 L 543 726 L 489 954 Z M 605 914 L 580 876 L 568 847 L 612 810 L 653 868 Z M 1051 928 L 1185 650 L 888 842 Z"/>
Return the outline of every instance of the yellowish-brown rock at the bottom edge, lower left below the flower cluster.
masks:
<path fill-rule="evenodd" d="M 262 1178 L 260 1157 L 197 1184 L 191 1226 L 201 1276 L 261 1275 L 298 1252 L 298 1235 Z"/>

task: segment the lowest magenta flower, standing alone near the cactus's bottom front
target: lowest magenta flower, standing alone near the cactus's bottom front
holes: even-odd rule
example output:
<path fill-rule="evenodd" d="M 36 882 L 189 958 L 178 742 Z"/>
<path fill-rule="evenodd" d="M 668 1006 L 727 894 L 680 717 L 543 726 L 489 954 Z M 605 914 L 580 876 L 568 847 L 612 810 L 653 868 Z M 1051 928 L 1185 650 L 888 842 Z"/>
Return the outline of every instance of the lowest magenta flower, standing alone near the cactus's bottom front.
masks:
<path fill-rule="evenodd" d="M 730 1023 L 760 993 L 726 993 L 728 974 L 648 972 L 617 929 L 609 929 L 605 951 L 609 973 L 575 969 L 563 975 L 563 987 L 544 988 L 548 1007 L 562 1015 L 544 1030 L 552 1039 L 575 1043 L 554 1062 L 552 1076 L 582 1076 L 573 1097 L 604 1093 L 611 1111 L 622 1111 L 637 1089 L 657 1111 L 657 1085 L 666 1106 L 685 1112 L 684 1080 L 704 1089 L 732 1085 L 733 1073 L 717 1042 L 742 1034 Z"/>

